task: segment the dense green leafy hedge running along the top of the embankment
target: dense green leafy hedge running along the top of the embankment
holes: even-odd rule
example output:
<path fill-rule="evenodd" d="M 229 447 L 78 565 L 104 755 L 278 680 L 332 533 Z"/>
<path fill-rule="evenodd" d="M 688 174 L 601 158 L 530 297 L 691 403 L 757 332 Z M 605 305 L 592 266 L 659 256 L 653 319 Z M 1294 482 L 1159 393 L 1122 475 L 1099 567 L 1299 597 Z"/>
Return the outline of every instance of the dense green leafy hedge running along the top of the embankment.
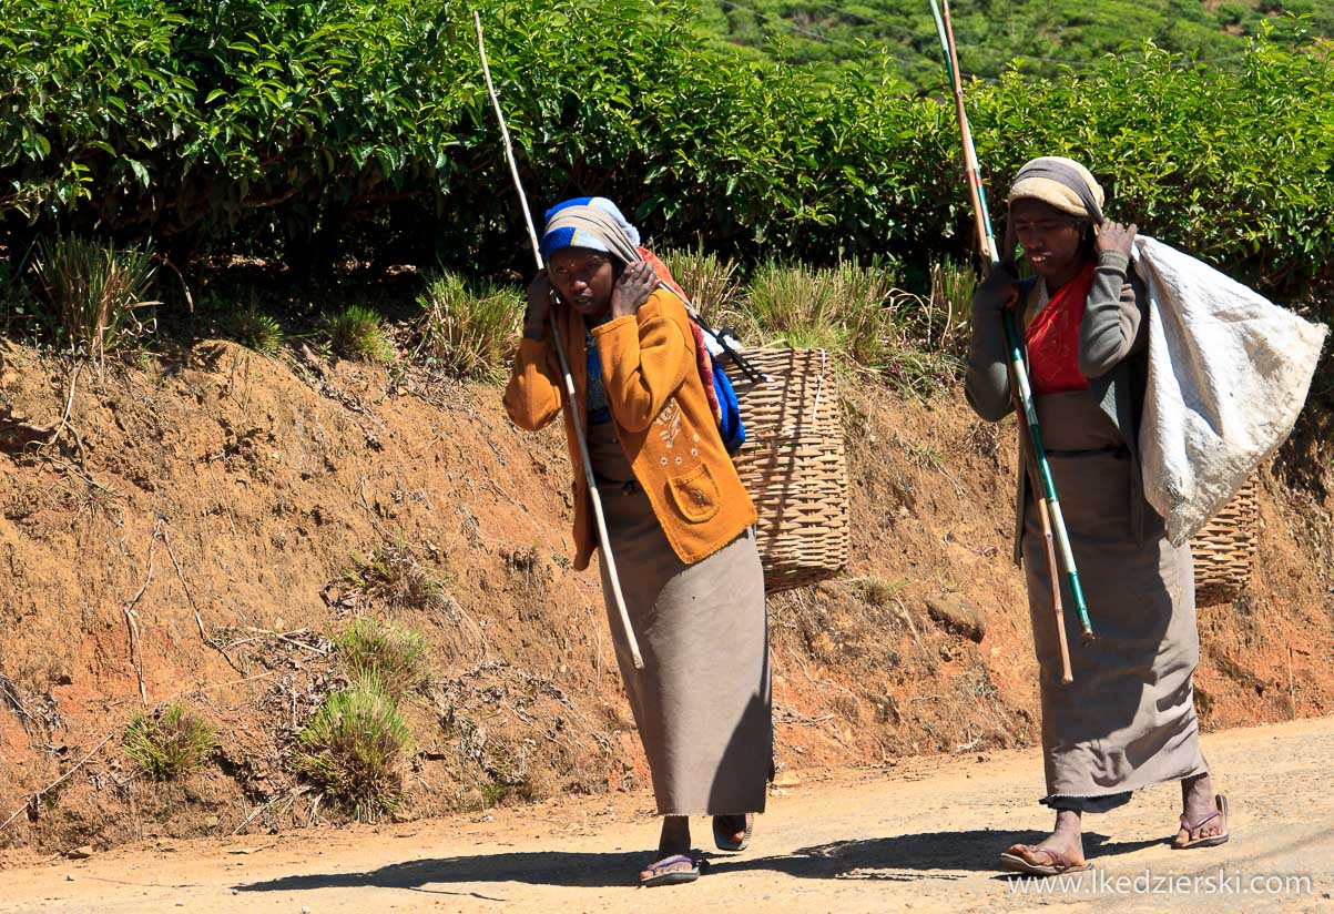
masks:
<path fill-rule="evenodd" d="M 682 0 L 482 4 L 530 197 L 602 193 L 656 244 L 815 262 L 960 251 L 952 111 L 884 65 L 823 84 L 743 61 Z M 524 267 L 471 13 L 446 0 L 0 0 L 0 213 L 293 266 Z M 1063 152 L 1111 211 L 1287 287 L 1331 279 L 1327 48 L 1261 36 L 1241 72 L 1153 47 L 968 89 L 992 183 Z"/>

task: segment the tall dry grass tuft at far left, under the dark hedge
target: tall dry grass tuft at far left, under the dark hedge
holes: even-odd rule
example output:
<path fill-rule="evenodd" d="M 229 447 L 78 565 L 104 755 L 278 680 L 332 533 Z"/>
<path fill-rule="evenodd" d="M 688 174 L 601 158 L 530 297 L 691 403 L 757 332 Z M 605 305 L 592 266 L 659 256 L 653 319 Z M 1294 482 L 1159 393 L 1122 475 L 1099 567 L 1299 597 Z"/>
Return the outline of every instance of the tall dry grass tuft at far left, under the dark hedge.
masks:
<path fill-rule="evenodd" d="M 43 239 L 33 262 L 41 294 L 51 304 L 63 343 L 99 362 L 132 350 L 153 331 L 136 311 L 148 300 L 156 272 L 151 250 L 117 250 L 75 236 Z"/>

